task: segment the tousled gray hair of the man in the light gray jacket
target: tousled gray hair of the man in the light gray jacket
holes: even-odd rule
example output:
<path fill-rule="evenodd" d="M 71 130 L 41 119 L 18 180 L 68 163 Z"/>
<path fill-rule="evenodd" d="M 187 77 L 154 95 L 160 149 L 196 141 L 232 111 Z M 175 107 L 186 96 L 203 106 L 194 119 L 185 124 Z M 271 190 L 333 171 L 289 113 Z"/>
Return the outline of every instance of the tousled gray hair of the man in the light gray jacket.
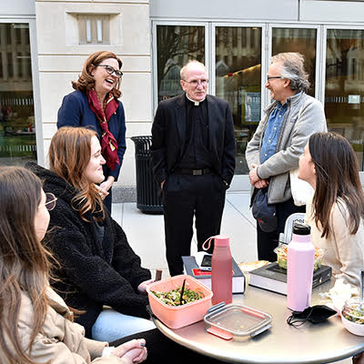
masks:
<path fill-rule="evenodd" d="M 290 80 L 290 88 L 293 91 L 299 90 L 308 92 L 308 73 L 303 66 L 305 57 L 298 52 L 278 53 L 272 56 L 272 63 L 282 65 L 281 76 Z"/>

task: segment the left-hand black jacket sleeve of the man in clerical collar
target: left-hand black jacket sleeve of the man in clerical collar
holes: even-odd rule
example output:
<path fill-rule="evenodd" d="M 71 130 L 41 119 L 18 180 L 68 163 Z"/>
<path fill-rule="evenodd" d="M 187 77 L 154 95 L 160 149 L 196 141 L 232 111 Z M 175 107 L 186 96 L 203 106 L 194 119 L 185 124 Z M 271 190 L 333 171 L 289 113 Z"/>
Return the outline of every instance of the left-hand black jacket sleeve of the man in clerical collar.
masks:
<path fill-rule="evenodd" d="M 160 103 L 152 126 L 150 154 L 154 177 L 160 184 L 167 179 L 167 109 Z"/>

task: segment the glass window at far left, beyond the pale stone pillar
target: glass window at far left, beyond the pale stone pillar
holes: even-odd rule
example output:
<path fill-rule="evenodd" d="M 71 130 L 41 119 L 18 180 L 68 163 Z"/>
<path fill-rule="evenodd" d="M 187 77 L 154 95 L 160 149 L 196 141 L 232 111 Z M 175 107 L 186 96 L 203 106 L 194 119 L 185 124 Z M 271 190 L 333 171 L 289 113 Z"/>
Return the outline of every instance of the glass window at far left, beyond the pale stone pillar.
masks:
<path fill-rule="evenodd" d="M 0 165 L 36 160 L 29 25 L 0 24 Z"/>

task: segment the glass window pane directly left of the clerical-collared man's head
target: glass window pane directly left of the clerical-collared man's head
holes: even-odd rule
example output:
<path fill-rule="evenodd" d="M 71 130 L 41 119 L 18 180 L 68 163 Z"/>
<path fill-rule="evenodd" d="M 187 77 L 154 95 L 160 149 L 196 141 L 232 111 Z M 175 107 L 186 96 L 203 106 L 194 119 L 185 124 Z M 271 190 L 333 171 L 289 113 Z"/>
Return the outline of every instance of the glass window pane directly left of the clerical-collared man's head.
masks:
<path fill-rule="evenodd" d="M 189 59 L 205 64 L 205 27 L 157 25 L 158 102 L 183 93 L 179 71 Z"/>

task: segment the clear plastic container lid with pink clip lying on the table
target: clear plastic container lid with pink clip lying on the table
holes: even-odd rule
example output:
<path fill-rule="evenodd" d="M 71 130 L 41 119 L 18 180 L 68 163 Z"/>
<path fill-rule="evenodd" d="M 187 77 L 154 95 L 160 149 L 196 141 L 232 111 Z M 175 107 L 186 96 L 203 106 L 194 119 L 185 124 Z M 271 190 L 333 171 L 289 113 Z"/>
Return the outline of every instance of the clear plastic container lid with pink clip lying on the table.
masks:
<path fill-rule="evenodd" d="M 271 327 L 272 317 L 256 308 L 221 302 L 208 309 L 204 318 L 207 331 L 222 339 L 254 337 Z"/>

